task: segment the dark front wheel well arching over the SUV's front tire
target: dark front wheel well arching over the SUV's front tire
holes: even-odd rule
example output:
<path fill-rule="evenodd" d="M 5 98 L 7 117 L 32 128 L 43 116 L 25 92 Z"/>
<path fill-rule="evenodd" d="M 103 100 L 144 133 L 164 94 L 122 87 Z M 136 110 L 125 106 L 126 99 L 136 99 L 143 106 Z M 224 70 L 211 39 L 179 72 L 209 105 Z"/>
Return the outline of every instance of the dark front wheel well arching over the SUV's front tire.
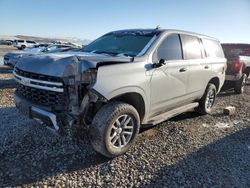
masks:
<path fill-rule="evenodd" d="M 120 96 L 114 97 L 111 101 L 122 101 L 132 105 L 139 113 L 140 120 L 142 121 L 145 115 L 145 103 L 142 96 L 138 93 L 125 93 Z"/>

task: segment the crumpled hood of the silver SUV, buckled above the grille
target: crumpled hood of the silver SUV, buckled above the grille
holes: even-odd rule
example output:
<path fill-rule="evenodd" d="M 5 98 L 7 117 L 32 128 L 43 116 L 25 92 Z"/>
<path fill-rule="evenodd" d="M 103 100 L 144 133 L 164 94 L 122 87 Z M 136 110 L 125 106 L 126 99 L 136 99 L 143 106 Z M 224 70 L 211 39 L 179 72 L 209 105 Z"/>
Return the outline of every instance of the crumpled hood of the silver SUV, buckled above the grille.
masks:
<path fill-rule="evenodd" d="M 75 76 L 89 68 L 105 64 L 131 62 L 130 57 L 109 56 L 86 52 L 65 52 L 28 56 L 20 59 L 16 68 L 23 71 L 56 77 Z"/>

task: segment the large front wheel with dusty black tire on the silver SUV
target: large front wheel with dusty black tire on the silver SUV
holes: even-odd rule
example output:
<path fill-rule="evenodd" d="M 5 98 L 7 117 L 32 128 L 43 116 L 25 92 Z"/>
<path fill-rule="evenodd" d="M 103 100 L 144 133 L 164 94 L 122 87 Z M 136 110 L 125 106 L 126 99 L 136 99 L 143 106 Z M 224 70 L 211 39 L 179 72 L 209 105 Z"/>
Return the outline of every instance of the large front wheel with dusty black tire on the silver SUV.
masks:
<path fill-rule="evenodd" d="M 125 122 L 127 122 L 125 118 L 126 116 L 129 120 L 127 124 L 125 124 Z M 122 122 L 125 121 L 124 125 L 120 122 L 120 127 L 118 126 L 119 128 L 115 129 L 117 126 L 116 120 L 119 122 L 119 118 L 124 118 L 124 120 L 122 120 Z M 131 132 L 126 129 L 127 125 L 130 125 L 129 127 L 133 127 L 129 128 Z M 126 153 L 129 150 L 139 133 L 139 128 L 139 114 L 133 106 L 123 102 L 110 102 L 104 105 L 96 113 L 92 121 L 92 125 L 90 126 L 91 144 L 98 153 L 108 158 L 114 158 Z M 129 132 L 130 135 L 127 135 L 127 132 Z M 127 137 L 125 135 L 127 135 Z M 118 137 L 119 139 L 117 139 Z M 127 141 L 126 144 L 123 139 Z M 123 142 L 124 146 L 115 146 L 116 142 L 113 144 L 112 140 L 113 142 L 114 140 L 116 140 L 116 142 L 119 141 L 118 145 Z"/>

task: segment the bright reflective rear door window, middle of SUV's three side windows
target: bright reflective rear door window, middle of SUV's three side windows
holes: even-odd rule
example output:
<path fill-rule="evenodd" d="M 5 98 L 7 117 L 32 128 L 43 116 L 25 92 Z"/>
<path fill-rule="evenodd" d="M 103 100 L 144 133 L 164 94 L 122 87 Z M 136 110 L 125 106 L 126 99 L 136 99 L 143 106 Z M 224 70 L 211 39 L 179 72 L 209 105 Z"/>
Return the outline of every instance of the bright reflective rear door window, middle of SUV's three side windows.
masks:
<path fill-rule="evenodd" d="M 185 59 L 202 58 L 201 44 L 197 37 L 190 35 L 182 35 L 181 40 L 183 44 Z"/>

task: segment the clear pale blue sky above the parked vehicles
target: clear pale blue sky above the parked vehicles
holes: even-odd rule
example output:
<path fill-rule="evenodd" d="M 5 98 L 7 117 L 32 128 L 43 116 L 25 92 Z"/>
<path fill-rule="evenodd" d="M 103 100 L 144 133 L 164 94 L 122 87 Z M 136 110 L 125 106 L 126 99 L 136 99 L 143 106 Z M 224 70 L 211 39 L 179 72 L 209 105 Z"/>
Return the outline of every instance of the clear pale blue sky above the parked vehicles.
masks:
<path fill-rule="evenodd" d="M 0 0 L 0 35 L 93 40 L 157 25 L 250 43 L 250 0 Z"/>

